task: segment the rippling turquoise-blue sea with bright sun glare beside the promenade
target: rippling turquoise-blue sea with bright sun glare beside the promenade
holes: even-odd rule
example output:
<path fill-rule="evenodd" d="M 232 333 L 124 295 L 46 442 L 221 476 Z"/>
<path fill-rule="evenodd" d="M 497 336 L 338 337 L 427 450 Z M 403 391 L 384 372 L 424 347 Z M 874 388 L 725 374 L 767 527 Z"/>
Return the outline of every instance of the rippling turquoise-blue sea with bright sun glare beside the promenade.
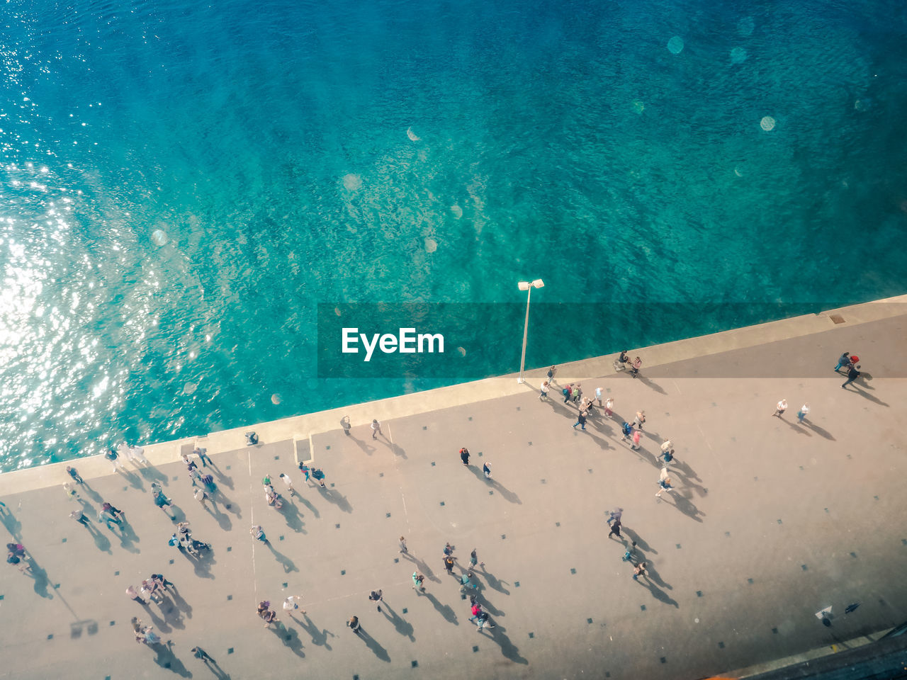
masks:
<path fill-rule="evenodd" d="M 872 0 L 8 0 L 0 470 L 514 372 L 521 280 L 527 366 L 907 292 L 905 35 Z M 348 303 L 501 315 L 463 374 L 319 378 Z"/>

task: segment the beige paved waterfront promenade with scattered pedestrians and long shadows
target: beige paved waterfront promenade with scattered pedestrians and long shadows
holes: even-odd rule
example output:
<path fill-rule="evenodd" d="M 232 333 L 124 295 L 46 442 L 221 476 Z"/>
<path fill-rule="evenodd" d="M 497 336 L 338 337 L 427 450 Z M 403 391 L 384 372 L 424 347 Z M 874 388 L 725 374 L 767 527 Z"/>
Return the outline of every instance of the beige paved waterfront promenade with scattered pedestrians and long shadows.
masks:
<path fill-rule="evenodd" d="M 148 446 L 151 466 L 125 472 L 74 461 L 87 482 L 78 501 L 61 488 L 63 465 L 0 475 L 0 519 L 34 559 L 31 576 L 0 570 L 0 677 L 692 679 L 874 639 L 907 621 L 905 303 L 641 349 L 630 353 L 645 361 L 635 380 L 614 373 L 613 356 L 561 366 L 560 384 L 580 380 L 589 395 L 602 386 L 615 400 L 614 417 L 596 410 L 585 432 L 559 393 L 539 401 L 539 370 L 527 385 L 490 379 L 210 433 L 198 441 L 216 466 L 216 510 L 192 498 L 180 461 L 195 439 Z M 866 373 L 847 390 L 832 370 L 844 350 Z M 790 408 L 772 417 L 782 397 Z M 798 424 L 804 402 L 812 411 Z M 633 451 L 619 426 L 639 409 L 648 420 Z M 258 446 L 243 446 L 250 429 Z M 677 491 L 659 500 L 666 437 Z M 297 461 L 311 459 L 327 488 L 302 481 Z M 265 474 L 282 511 L 265 501 Z M 152 481 L 210 541 L 209 556 L 168 545 L 174 521 L 153 505 Z M 94 521 L 102 500 L 129 529 Z M 625 546 L 608 538 L 615 506 L 648 579 L 630 578 Z M 93 510 L 91 528 L 68 517 L 76 507 Z M 253 524 L 268 545 L 249 536 Z M 447 541 L 461 566 L 478 550 L 493 630 L 468 620 L 442 566 Z M 161 572 L 178 587 L 161 606 L 124 595 Z M 381 612 L 367 597 L 376 588 Z M 306 615 L 279 608 L 288 595 L 302 596 Z M 256 616 L 262 599 L 279 627 Z M 824 627 L 814 612 L 829 605 Z M 345 626 L 354 614 L 361 637 Z M 134 643 L 133 616 L 172 645 Z M 193 658 L 193 646 L 218 665 Z"/>

